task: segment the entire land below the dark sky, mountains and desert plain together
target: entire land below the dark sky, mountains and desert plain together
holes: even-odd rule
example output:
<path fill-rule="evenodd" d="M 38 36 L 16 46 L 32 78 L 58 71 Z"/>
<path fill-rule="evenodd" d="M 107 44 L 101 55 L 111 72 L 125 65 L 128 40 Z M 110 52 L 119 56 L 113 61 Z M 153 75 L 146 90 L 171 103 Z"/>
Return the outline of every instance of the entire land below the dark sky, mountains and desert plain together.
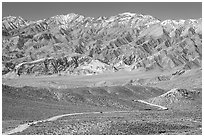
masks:
<path fill-rule="evenodd" d="M 202 135 L 202 18 L 2 18 L 2 134 Z"/>

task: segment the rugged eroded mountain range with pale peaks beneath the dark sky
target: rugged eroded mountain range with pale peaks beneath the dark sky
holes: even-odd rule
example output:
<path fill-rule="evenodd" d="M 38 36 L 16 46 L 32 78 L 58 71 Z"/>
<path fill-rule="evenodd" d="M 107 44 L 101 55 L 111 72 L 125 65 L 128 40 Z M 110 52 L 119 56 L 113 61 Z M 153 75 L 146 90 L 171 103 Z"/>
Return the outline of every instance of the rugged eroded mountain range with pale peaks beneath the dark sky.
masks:
<path fill-rule="evenodd" d="M 133 13 L 2 19 L 3 74 L 186 70 L 201 67 L 201 60 L 202 19 L 160 21 Z"/>

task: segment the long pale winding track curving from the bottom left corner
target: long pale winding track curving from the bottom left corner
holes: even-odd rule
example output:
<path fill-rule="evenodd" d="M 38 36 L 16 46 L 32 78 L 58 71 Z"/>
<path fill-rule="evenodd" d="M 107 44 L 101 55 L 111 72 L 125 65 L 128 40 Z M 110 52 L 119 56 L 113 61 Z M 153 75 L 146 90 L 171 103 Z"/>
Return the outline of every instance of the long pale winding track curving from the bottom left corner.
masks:
<path fill-rule="evenodd" d="M 135 111 L 108 111 L 108 112 L 103 112 L 103 113 L 124 113 L 124 112 L 135 112 Z M 57 115 L 57 116 L 54 116 L 54 117 L 51 117 L 51 118 L 48 118 L 45 120 L 39 120 L 39 121 L 34 121 L 34 122 L 19 125 L 15 129 L 4 132 L 3 135 L 10 135 L 10 134 L 22 132 L 22 131 L 26 130 L 27 128 L 29 128 L 31 125 L 35 125 L 35 124 L 40 123 L 40 122 L 55 121 L 61 117 L 74 116 L 74 115 L 84 115 L 84 114 L 100 114 L 100 113 L 101 112 L 84 112 L 84 113 L 71 113 L 71 114 Z"/>

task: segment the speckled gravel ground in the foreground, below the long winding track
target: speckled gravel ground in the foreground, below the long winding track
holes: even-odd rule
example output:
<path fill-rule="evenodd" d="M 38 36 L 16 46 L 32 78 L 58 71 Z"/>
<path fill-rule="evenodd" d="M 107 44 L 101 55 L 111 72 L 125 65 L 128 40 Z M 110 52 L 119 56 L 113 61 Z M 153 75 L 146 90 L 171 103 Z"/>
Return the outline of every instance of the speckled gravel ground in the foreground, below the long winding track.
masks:
<path fill-rule="evenodd" d="M 18 135 L 201 135 L 201 117 L 172 110 L 73 116 L 33 125 Z"/>

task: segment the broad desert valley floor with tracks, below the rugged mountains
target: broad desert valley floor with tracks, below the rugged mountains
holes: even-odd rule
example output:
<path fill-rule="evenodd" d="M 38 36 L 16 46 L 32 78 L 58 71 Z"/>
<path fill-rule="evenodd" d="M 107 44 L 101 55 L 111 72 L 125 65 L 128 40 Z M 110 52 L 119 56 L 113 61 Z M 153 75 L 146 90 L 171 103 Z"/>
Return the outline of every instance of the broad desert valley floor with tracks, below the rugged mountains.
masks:
<path fill-rule="evenodd" d="M 202 134 L 202 69 L 174 71 L 3 78 L 2 132 Z"/>

